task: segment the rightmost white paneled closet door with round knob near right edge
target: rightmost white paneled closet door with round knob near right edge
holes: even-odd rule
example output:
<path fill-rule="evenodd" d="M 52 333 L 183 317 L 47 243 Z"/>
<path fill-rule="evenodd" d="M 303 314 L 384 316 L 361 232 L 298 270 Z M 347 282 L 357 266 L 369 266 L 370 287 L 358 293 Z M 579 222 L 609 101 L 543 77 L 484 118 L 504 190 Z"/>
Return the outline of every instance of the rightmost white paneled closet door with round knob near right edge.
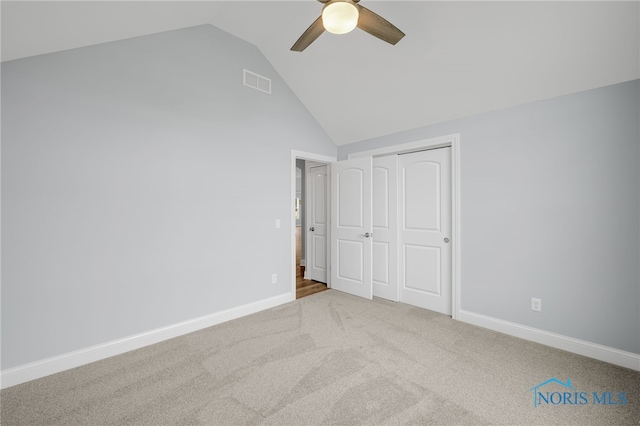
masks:
<path fill-rule="evenodd" d="M 451 315 L 451 148 L 398 161 L 400 301 Z"/>

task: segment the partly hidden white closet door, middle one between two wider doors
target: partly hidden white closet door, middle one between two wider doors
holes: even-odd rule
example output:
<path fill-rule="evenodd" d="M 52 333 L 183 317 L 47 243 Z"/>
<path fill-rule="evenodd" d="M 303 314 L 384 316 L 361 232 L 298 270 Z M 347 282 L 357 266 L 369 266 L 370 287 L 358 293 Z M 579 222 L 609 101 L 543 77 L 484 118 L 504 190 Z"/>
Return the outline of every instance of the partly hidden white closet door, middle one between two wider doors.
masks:
<path fill-rule="evenodd" d="M 398 301 L 398 156 L 373 159 L 373 295 Z"/>

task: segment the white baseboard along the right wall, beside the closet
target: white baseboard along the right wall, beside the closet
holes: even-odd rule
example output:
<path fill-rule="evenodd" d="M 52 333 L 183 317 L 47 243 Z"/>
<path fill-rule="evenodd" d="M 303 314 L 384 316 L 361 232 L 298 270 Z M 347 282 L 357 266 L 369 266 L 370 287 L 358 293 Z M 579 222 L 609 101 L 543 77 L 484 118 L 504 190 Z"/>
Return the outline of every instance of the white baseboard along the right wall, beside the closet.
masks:
<path fill-rule="evenodd" d="M 464 310 L 460 310 L 458 319 L 462 322 L 488 328 L 510 336 L 640 371 L 640 355 L 632 352 L 587 342 L 585 340 L 574 339 L 573 337 L 567 337 Z"/>

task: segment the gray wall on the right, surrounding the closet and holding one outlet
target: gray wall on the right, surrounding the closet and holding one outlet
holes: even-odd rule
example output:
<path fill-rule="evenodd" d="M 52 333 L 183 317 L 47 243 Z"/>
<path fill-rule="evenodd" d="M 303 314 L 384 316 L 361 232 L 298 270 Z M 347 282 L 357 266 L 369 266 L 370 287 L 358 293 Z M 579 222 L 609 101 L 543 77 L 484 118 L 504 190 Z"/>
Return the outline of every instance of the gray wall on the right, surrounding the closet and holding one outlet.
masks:
<path fill-rule="evenodd" d="M 635 80 L 342 146 L 339 158 L 460 133 L 462 309 L 640 353 L 639 102 Z"/>

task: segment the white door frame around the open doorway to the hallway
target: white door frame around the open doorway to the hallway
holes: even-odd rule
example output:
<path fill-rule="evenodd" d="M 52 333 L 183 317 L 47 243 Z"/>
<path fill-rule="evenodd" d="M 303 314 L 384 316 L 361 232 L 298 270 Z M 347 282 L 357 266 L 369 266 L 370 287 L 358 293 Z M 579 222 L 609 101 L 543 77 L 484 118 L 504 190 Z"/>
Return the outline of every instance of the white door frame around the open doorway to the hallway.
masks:
<path fill-rule="evenodd" d="M 313 161 L 314 163 L 320 163 L 320 164 L 326 164 L 328 167 L 331 167 L 331 163 L 335 163 L 336 161 L 338 161 L 337 157 L 331 157 L 328 155 L 322 155 L 322 154 L 316 154 L 313 152 L 304 152 L 304 151 L 297 151 L 292 149 L 291 150 L 291 196 L 289 197 L 289 199 L 291 200 L 291 206 L 289 208 L 290 211 L 290 215 L 291 215 L 291 229 L 290 229 L 290 235 L 291 235 L 291 244 L 290 244 L 290 253 L 289 253 L 289 258 L 291 259 L 291 266 L 290 266 L 290 271 L 291 271 L 291 300 L 296 300 L 296 218 L 295 218 L 295 211 L 296 211 L 296 159 L 299 160 L 305 160 L 305 161 Z M 306 169 L 306 167 L 305 167 Z M 303 171 L 303 173 L 305 173 L 305 171 Z M 329 175 L 329 173 L 327 173 L 327 198 L 329 196 L 329 191 L 331 189 L 331 187 L 329 186 L 330 183 L 330 179 L 331 176 Z M 306 189 L 305 189 L 306 192 Z M 306 198 L 306 193 L 305 193 L 305 198 Z M 305 203 L 306 204 L 306 203 Z M 303 208 L 306 209 L 306 207 L 303 205 Z M 327 200 L 327 208 L 329 208 L 329 200 Z M 305 210 L 305 214 L 306 214 L 306 210 Z M 331 241 L 331 229 L 330 229 L 330 220 L 331 218 L 327 216 L 327 241 Z M 330 262 L 330 244 L 327 244 L 327 287 L 331 288 L 331 262 Z"/>

